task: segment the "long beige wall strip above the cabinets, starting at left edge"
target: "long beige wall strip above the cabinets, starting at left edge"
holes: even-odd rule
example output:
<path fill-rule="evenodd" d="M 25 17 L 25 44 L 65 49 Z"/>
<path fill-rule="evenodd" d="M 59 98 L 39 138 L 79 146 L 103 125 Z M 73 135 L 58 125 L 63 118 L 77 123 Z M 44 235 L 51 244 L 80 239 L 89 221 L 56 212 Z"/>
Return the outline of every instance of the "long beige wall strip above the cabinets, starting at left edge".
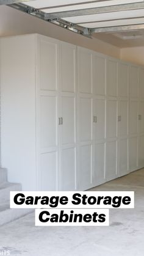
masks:
<path fill-rule="evenodd" d="M 38 33 L 120 58 L 120 48 L 96 38 L 89 39 L 8 6 L 0 6 L 0 35 Z"/>

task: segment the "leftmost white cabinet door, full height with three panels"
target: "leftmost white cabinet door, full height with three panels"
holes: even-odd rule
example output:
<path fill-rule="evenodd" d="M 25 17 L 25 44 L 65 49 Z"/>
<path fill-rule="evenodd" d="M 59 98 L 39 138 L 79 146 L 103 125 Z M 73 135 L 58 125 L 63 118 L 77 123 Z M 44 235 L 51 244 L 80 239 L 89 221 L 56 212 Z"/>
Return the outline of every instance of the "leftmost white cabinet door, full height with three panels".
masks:
<path fill-rule="evenodd" d="M 38 182 L 43 191 L 58 189 L 59 173 L 59 43 L 39 36 L 38 73 L 40 102 L 40 160 Z M 39 130 L 38 130 L 39 131 Z"/>

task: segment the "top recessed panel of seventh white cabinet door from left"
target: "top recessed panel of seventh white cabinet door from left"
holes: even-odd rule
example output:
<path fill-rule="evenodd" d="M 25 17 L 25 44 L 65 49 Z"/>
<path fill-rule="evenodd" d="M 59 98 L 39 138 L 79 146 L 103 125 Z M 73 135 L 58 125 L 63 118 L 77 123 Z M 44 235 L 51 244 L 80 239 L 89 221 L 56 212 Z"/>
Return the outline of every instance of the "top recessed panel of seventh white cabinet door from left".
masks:
<path fill-rule="evenodd" d="M 131 98 L 137 98 L 138 89 L 138 68 L 129 68 L 129 94 Z"/>

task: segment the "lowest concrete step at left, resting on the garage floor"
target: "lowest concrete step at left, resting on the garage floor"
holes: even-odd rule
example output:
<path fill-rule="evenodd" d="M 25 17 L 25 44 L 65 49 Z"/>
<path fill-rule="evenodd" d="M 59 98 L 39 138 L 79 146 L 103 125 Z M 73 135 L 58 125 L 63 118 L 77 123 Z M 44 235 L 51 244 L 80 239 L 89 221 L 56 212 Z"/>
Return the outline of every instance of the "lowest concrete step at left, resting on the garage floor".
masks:
<path fill-rule="evenodd" d="M 5 201 L 0 204 L 0 225 L 15 221 L 32 211 L 32 209 L 10 209 L 9 200 Z"/>

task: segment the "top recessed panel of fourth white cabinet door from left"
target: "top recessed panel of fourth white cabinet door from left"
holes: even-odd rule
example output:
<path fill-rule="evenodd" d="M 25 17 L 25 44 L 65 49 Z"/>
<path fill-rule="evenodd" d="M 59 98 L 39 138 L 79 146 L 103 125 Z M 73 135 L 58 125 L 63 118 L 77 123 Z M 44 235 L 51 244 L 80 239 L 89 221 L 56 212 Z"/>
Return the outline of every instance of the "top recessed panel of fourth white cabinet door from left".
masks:
<path fill-rule="evenodd" d="M 106 60 L 104 57 L 93 55 L 93 93 L 105 95 L 106 87 Z"/>

